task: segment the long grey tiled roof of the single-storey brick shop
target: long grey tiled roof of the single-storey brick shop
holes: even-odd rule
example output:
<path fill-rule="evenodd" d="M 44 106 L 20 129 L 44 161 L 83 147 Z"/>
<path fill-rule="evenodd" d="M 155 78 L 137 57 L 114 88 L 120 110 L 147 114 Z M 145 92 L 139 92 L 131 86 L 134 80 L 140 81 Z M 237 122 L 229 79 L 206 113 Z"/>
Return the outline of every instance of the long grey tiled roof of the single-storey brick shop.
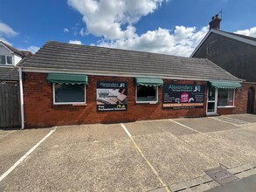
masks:
<path fill-rule="evenodd" d="M 18 66 L 27 72 L 241 81 L 206 58 L 184 58 L 54 41 L 47 42 Z"/>

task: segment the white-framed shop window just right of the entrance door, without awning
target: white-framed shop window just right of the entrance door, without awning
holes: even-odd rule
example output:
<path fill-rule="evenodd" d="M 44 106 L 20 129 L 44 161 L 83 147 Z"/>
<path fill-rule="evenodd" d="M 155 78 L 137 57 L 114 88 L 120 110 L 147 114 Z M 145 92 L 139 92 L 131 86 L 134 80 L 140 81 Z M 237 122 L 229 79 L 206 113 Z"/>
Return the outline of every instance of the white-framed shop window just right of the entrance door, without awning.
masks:
<path fill-rule="evenodd" d="M 234 106 L 234 89 L 218 89 L 218 106 Z"/>

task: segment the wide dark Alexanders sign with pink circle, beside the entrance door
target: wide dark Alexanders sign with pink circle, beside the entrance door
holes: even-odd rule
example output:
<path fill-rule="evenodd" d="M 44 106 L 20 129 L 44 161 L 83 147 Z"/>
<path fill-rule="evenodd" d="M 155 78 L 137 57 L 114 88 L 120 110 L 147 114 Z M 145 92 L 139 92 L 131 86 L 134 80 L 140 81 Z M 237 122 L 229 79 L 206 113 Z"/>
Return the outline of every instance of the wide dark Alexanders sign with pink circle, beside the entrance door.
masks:
<path fill-rule="evenodd" d="M 163 84 L 163 108 L 204 107 L 204 85 Z"/>

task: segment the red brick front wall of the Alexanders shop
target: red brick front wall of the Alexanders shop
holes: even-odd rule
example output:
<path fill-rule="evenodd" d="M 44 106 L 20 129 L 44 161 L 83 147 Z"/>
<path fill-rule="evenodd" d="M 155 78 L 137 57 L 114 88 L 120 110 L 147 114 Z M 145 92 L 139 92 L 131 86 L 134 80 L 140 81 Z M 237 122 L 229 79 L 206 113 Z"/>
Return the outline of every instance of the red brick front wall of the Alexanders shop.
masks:
<path fill-rule="evenodd" d="M 207 83 L 205 81 L 164 79 L 164 83 L 205 85 L 204 108 L 162 108 L 163 89 L 158 88 L 158 104 L 136 104 L 133 78 L 89 76 L 86 86 L 86 106 L 53 105 L 52 84 L 47 84 L 47 73 L 24 72 L 25 127 L 51 127 L 90 123 L 110 123 L 135 120 L 157 120 L 178 117 L 205 116 Z M 128 82 L 128 110 L 122 112 L 97 112 L 97 81 Z M 218 109 L 218 113 L 246 113 L 246 95 L 243 88 L 236 91 L 235 108 Z M 242 96 L 241 96 L 242 95 Z"/>

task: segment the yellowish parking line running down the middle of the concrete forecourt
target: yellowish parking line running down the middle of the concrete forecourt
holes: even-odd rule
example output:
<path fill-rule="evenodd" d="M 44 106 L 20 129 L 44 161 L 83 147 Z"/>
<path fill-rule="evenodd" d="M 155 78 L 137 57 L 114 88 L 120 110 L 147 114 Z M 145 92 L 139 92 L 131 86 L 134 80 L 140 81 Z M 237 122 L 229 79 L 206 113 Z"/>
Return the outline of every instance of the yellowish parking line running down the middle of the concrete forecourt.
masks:
<path fill-rule="evenodd" d="M 160 177 L 160 175 L 158 175 L 158 173 L 156 172 L 156 169 L 153 167 L 153 165 L 149 162 L 149 160 L 147 159 L 147 157 L 142 153 L 141 148 L 137 145 L 137 143 L 134 141 L 132 135 L 129 133 L 127 127 L 125 127 L 125 125 L 123 123 L 121 123 L 121 127 L 123 128 L 123 130 L 125 131 L 126 134 L 128 134 L 128 137 L 131 139 L 131 141 L 133 141 L 137 151 L 142 155 L 142 158 L 147 162 L 147 164 L 149 165 L 149 168 L 151 168 L 151 170 L 153 171 L 153 173 L 156 175 L 156 178 L 158 179 L 159 182 L 161 182 L 161 184 L 163 185 L 163 188 L 167 191 L 170 192 L 170 189 L 168 188 L 168 185 L 166 185 L 163 182 L 163 179 Z"/>

